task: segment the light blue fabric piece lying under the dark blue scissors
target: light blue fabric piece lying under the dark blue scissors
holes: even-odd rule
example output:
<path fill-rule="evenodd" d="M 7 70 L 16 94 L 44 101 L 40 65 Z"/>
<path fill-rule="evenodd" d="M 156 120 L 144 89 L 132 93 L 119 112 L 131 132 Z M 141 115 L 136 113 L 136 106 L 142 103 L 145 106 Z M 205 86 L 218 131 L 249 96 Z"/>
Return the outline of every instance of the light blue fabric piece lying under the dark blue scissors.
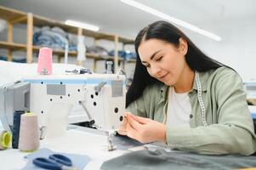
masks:
<path fill-rule="evenodd" d="M 36 152 L 33 152 L 33 153 L 25 156 L 25 158 L 28 159 L 28 162 L 26 164 L 26 167 L 23 167 L 22 169 L 23 170 L 43 170 L 43 168 L 37 167 L 32 163 L 33 159 L 35 159 L 37 157 L 48 158 L 48 156 L 52 155 L 52 154 L 61 154 L 61 155 L 67 156 L 68 158 L 71 159 L 73 166 L 76 167 L 77 170 L 82 170 L 88 164 L 88 162 L 91 161 L 91 158 L 86 155 L 57 153 L 52 150 L 48 150 L 47 148 L 42 148 L 40 150 L 37 150 Z"/>

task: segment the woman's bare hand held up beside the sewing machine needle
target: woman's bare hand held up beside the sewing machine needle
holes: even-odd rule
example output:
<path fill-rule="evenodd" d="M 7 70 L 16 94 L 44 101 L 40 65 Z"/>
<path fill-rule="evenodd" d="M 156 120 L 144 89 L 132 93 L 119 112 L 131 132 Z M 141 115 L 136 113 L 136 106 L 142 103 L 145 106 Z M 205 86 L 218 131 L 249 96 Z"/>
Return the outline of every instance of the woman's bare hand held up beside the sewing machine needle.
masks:
<path fill-rule="evenodd" d="M 128 121 L 126 127 L 128 137 L 141 143 L 166 142 L 165 124 L 131 114 L 126 114 L 126 117 Z"/>

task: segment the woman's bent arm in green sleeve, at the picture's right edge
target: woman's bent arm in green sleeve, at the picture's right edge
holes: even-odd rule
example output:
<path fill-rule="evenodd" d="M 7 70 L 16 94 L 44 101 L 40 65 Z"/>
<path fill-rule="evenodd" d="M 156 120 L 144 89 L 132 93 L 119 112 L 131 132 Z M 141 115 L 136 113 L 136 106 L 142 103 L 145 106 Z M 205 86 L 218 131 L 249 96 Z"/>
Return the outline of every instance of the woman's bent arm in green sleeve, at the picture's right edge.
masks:
<path fill-rule="evenodd" d="M 235 71 L 223 71 L 216 78 L 218 123 L 168 128 L 168 146 L 202 154 L 251 155 L 256 150 L 256 140 L 242 80 Z"/>

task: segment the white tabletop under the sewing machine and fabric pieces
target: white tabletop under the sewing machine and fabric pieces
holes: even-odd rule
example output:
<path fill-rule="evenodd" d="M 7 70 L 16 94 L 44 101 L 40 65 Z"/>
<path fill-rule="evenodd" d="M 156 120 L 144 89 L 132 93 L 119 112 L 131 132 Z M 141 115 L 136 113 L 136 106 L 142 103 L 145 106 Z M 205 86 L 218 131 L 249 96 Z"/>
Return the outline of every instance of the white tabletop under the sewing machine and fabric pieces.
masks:
<path fill-rule="evenodd" d="M 79 127 L 78 127 L 79 128 Z M 122 156 L 128 150 L 107 150 L 107 136 L 101 133 L 86 132 L 81 129 L 69 129 L 65 135 L 54 139 L 43 139 L 40 148 L 48 148 L 56 152 L 80 154 L 89 156 L 84 169 L 100 169 L 101 164 L 111 158 Z M 1 169 L 21 169 L 26 166 L 26 156 L 29 153 L 9 149 L 0 151 Z"/>

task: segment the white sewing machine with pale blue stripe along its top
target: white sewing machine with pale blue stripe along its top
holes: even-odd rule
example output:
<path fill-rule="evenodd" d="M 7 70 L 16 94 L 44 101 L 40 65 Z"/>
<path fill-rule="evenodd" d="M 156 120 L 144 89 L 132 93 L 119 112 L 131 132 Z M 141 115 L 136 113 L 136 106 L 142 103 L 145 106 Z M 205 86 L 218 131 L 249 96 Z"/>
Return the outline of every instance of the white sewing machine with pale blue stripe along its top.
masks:
<path fill-rule="evenodd" d="M 125 93 L 125 77 L 120 74 L 25 77 L 0 89 L 0 118 L 11 131 L 14 111 L 31 111 L 38 116 L 41 138 L 50 138 L 65 133 L 67 116 L 79 104 L 92 127 L 112 133 L 122 125 Z"/>

